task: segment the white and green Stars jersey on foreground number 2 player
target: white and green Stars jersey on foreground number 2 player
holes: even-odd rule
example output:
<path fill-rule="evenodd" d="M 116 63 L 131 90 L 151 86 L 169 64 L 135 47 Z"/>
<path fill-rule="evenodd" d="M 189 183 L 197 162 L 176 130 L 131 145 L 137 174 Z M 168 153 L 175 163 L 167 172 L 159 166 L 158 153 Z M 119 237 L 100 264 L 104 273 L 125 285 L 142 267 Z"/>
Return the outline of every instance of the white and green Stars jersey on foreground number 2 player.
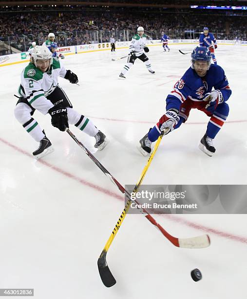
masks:
<path fill-rule="evenodd" d="M 43 114 L 54 105 L 46 98 L 58 84 L 58 77 L 64 78 L 67 70 L 61 63 L 53 58 L 50 70 L 43 73 L 34 64 L 28 64 L 21 73 L 19 95 L 26 98 L 29 104 Z"/>

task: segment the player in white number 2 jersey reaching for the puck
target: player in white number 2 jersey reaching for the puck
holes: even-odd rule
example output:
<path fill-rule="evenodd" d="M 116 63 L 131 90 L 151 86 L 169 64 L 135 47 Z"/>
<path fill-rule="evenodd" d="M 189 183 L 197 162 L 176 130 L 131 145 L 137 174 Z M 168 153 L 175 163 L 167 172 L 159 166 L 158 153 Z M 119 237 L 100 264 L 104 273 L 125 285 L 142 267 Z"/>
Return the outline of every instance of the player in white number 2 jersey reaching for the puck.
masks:
<path fill-rule="evenodd" d="M 106 146 L 106 136 L 91 120 L 73 109 L 67 95 L 58 85 L 58 77 L 65 78 L 72 84 L 78 82 L 76 74 L 66 70 L 58 59 L 52 58 L 52 53 L 46 46 L 36 46 L 30 63 L 21 73 L 20 98 L 15 107 L 16 119 L 39 142 L 33 155 L 38 159 L 54 150 L 44 130 L 32 117 L 36 109 L 44 115 L 49 113 L 52 125 L 60 131 L 69 128 L 69 124 L 75 125 L 89 136 L 95 137 L 96 149 L 103 149 Z"/>

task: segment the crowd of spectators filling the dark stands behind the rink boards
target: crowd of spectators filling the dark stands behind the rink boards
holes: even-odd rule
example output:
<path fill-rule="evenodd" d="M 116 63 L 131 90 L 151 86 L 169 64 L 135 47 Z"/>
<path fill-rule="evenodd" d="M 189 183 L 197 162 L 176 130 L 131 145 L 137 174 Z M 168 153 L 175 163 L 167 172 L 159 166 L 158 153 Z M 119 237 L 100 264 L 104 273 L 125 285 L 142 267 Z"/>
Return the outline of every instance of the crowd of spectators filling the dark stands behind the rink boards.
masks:
<path fill-rule="evenodd" d="M 57 36 L 58 46 L 109 42 L 112 35 L 116 40 L 123 41 L 127 40 L 127 30 L 130 39 L 138 26 L 145 28 L 150 39 L 159 39 L 162 31 L 173 39 L 188 38 L 188 30 L 195 32 L 192 38 L 198 38 L 203 27 L 207 26 L 217 39 L 238 37 L 247 40 L 247 15 L 234 17 L 186 9 L 162 13 L 134 11 L 128 14 L 124 9 L 118 12 L 53 10 L 49 13 L 2 13 L 0 41 L 10 43 L 20 51 L 26 50 L 34 40 L 43 43 L 49 32 Z"/>

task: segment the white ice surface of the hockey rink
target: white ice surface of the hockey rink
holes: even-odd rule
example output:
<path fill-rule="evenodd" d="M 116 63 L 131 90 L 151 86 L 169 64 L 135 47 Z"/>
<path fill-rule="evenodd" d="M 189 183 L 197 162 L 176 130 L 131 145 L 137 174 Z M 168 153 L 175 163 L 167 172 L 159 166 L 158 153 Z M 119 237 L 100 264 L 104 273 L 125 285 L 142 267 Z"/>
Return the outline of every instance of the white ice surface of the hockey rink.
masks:
<path fill-rule="evenodd" d="M 136 145 L 164 114 L 165 98 L 190 66 L 190 55 L 150 46 L 155 74 L 136 61 L 125 81 L 117 80 L 127 50 L 66 56 L 79 84 L 59 84 L 74 108 L 110 140 L 101 152 L 94 138 L 71 130 L 122 184 L 135 184 L 147 157 Z M 192 110 L 185 125 L 162 139 L 144 184 L 247 184 L 247 59 L 244 46 L 219 45 L 218 64 L 232 95 L 228 120 L 208 157 L 198 149 L 209 118 Z M 0 288 L 34 288 L 35 299 L 244 299 L 246 298 L 246 215 L 154 215 L 172 235 L 208 233 L 211 246 L 175 248 L 142 215 L 127 215 L 107 260 L 117 284 L 107 289 L 97 258 L 124 208 L 123 196 L 65 132 L 38 111 L 55 151 L 36 161 L 38 144 L 14 118 L 21 70 L 0 67 Z M 236 194 L 237 196 L 237 194 Z M 232 198 L 234 200 L 234 198 Z M 203 279 L 194 282 L 190 271 Z"/>

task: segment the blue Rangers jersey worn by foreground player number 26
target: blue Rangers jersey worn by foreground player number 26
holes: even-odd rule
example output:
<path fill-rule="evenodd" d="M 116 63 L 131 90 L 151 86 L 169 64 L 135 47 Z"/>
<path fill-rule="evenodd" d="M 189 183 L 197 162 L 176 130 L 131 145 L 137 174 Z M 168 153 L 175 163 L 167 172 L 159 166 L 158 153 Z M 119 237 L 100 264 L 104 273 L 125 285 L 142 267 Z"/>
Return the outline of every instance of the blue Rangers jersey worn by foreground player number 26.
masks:
<path fill-rule="evenodd" d="M 205 77 L 198 76 L 195 70 L 190 67 L 167 96 L 166 109 L 180 110 L 181 104 L 187 99 L 203 101 L 206 93 L 211 92 L 212 88 L 222 93 L 224 102 L 231 95 L 227 77 L 221 66 L 211 64 Z"/>

